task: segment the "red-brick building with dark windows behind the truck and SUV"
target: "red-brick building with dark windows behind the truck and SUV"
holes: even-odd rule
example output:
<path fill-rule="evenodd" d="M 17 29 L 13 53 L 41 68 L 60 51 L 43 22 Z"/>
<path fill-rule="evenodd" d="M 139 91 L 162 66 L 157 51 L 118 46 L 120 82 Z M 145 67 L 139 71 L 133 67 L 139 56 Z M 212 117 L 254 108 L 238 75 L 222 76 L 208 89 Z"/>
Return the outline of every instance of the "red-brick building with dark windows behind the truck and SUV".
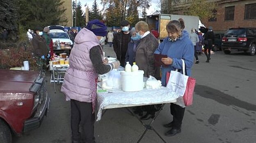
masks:
<path fill-rule="evenodd" d="M 170 1 L 170 0 L 162 0 Z M 216 32 L 224 33 L 232 27 L 256 27 L 256 0 L 208 0 L 217 2 L 216 17 L 203 21 Z M 191 0 L 171 0 L 172 14 L 181 14 L 190 5 Z"/>

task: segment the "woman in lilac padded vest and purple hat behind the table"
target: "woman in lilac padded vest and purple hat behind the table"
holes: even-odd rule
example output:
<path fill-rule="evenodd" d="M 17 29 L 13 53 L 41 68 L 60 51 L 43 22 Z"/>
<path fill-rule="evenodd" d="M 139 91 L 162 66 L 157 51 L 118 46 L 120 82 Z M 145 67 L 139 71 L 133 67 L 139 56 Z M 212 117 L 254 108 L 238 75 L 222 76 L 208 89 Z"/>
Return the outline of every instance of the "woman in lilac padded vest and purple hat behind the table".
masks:
<path fill-rule="evenodd" d="M 108 63 L 100 43 L 107 27 L 99 20 L 91 20 L 75 37 L 69 56 L 61 92 L 71 104 L 72 143 L 95 143 L 94 122 L 98 74 L 117 69 L 120 63 Z M 79 129 L 79 128 L 82 129 Z M 81 133 L 80 133 L 81 130 Z"/>

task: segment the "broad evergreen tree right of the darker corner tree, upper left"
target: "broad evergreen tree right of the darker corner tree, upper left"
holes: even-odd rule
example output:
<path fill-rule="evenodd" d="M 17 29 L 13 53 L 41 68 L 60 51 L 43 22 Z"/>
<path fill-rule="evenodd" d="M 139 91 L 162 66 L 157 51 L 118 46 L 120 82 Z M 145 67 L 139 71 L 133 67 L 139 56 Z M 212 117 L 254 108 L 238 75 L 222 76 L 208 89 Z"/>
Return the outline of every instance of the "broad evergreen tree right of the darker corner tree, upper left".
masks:
<path fill-rule="evenodd" d="M 17 0 L 18 24 L 26 29 L 67 22 L 62 0 Z"/>

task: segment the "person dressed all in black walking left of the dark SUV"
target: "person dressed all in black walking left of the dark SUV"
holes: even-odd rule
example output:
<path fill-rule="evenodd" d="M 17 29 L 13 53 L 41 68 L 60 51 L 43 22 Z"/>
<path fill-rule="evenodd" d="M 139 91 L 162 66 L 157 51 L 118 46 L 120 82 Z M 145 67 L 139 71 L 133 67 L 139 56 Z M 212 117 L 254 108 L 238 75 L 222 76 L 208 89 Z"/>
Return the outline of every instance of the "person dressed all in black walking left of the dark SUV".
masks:
<path fill-rule="evenodd" d="M 204 35 L 204 54 L 206 55 L 206 63 L 210 62 L 210 51 L 212 49 L 212 47 L 214 46 L 214 33 L 213 33 L 213 27 L 209 27 L 208 32 L 206 32 L 206 34 Z"/>

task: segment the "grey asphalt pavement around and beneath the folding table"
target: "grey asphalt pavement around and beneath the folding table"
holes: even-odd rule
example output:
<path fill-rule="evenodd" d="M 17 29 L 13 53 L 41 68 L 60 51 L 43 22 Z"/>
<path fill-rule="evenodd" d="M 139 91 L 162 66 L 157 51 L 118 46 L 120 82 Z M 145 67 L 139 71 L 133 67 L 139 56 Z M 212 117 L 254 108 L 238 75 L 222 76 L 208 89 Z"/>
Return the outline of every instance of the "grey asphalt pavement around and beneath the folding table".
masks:
<path fill-rule="evenodd" d="M 113 55 L 110 47 L 106 55 Z M 192 76 L 197 79 L 194 104 L 186 108 L 182 132 L 173 137 L 162 125 L 171 121 L 166 105 L 153 124 L 167 143 L 256 143 L 256 56 L 233 52 L 225 55 L 217 51 L 210 63 L 204 55 L 194 65 Z M 50 110 L 41 127 L 14 143 L 71 143 L 70 103 L 59 91 L 51 96 Z M 109 109 L 95 124 L 97 143 L 136 143 L 144 127 L 126 109 Z M 146 133 L 141 143 L 162 143 L 153 131 Z"/>

